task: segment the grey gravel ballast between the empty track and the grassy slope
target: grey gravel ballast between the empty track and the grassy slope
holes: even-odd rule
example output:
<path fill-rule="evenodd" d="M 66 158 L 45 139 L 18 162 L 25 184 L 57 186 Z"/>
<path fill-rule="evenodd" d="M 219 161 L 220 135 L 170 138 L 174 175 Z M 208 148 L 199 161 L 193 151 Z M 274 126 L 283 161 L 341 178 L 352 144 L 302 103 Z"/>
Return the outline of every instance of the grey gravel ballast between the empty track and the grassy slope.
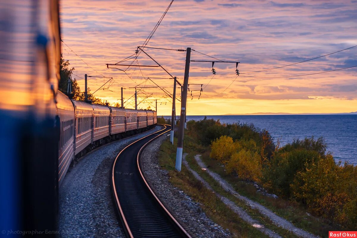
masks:
<path fill-rule="evenodd" d="M 170 133 L 152 141 L 141 153 L 141 168 L 151 189 L 192 237 L 230 237 L 229 231 L 225 231 L 206 216 L 199 203 L 172 186 L 168 172 L 160 168 L 157 152 L 167 135 Z"/>

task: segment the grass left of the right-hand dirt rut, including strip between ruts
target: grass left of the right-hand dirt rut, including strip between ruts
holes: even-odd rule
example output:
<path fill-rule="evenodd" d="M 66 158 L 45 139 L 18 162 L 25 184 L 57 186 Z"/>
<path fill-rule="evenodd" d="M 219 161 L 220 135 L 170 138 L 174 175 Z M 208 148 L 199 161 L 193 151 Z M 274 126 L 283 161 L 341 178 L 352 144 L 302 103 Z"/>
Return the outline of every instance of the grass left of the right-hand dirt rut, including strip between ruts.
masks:
<path fill-rule="evenodd" d="M 253 228 L 250 224 L 243 221 L 235 212 L 231 211 L 212 191 L 202 185 L 197 179 L 186 169 L 182 167 L 181 173 L 175 171 L 176 147 L 172 146 L 167 140 L 164 141 L 160 148 L 159 163 L 160 166 L 169 171 L 170 182 L 183 190 L 192 199 L 201 204 L 201 208 L 206 214 L 217 224 L 223 228 L 228 228 L 233 237 L 267 237 L 262 232 Z M 229 198 L 235 202 L 237 206 L 242 207 L 253 219 L 263 224 L 266 228 L 275 231 L 282 237 L 296 238 L 297 236 L 281 227 L 276 226 L 272 221 L 263 216 L 257 209 L 250 208 L 245 202 L 237 199 L 232 194 L 226 192 L 221 186 L 207 173 L 203 172 L 196 163 L 194 156 L 197 151 L 191 151 L 186 156 L 190 167 L 194 169 L 200 176 L 207 181 L 215 192 Z M 210 194 L 210 196 L 207 196 Z"/>

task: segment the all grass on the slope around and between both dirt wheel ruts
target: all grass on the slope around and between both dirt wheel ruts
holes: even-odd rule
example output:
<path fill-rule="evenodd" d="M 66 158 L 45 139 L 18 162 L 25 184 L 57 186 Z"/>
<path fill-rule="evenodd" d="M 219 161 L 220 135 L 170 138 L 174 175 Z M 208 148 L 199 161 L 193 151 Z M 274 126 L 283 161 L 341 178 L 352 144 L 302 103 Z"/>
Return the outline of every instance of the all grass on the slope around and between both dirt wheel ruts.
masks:
<path fill-rule="evenodd" d="M 277 232 L 283 237 L 296 237 L 291 232 L 287 232 L 285 229 L 277 227 L 270 221 L 270 219 L 262 216 L 258 210 L 247 207 L 245 202 L 240 201 L 232 194 L 224 191 L 224 189 L 222 189 L 221 186 L 209 176 L 209 174 L 201 170 L 193 156 L 196 154 L 202 154 L 202 161 L 205 162 L 213 172 L 220 174 L 220 176 L 230 183 L 238 193 L 250 198 L 252 201 L 262 204 L 278 216 L 290 221 L 296 227 L 316 234 L 320 237 L 327 237 L 328 231 L 338 230 L 338 227 L 332 226 L 328 223 L 328 221 L 308 214 L 307 210 L 300 206 L 297 202 L 288 201 L 280 197 L 275 199 L 264 196 L 263 194 L 257 192 L 257 188 L 253 184 L 242 181 L 238 177 L 226 173 L 225 167 L 222 166 L 222 164 L 218 163 L 215 159 L 210 158 L 210 148 L 200 145 L 200 143 L 197 143 L 190 135 L 190 131 L 186 132 L 188 133 L 185 133 L 184 152 L 189 153 L 186 159 L 189 162 L 190 167 L 198 172 L 203 179 L 210 183 L 215 191 L 228 197 L 238 206 L 243 207 L 252 218 L 264 224 L 265 227 Z M 174 143 L 174 145 L 176 145 L 176 143 Z M 202 187 L 202 184 L 197 181 L 186 168 L 183 167 L 181 173 L 177 173 L 175 171 L 174 164 L 176 158 L 176 147 L 172 146 L 168 141 L 165 141 L 161 150 L 162 153 L 166 154 L 166 157 L 164 155 L 160 155 L 160 161 L 162 166 L 164 166 L 164 168 L 169 171 L 169 174 L 171 174 L 171 183 L 174 186 L 181 188 L 197 202 L 200 202 L 202 204 L 202 209 L 211 217 L 213 221 L 219 223 L 224 228 L 230 229 L 231 233 L 235 234 L 236 237 L 265 237 L 265 235 L 261 232 L 259 232 L 258 235 L 252 235 L 255 233 L 245 232 L 246 227 L 249 227 L 249 230 L 251 230 L 252 227 L 242 221 L 242 219 L 240 219 L 234 212 L 231 212 L 219 198 L 216 196 L 206 196 L 206 194 L 212 194 L 212 192 Z M 244 223 L 246 224 L 243 225 Z"/>

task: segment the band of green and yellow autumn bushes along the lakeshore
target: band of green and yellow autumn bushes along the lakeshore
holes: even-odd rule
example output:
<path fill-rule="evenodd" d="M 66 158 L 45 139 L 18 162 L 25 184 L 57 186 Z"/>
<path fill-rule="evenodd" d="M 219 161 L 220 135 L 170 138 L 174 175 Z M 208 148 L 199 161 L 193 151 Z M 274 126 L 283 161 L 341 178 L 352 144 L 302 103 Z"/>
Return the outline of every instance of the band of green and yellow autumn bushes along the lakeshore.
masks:
<path fill-rule="evenodd" d="M 205 118 L 189 121 L 188 128 L 185 145 L 202 152 L 210 145 L 210 157 L 225 164 L 228 173 L 261 183 L 341 228 L 357 228 L 357 167 L 336 164 L 322 137 L 276 148 L 270 133 L 252 124 Z"/>

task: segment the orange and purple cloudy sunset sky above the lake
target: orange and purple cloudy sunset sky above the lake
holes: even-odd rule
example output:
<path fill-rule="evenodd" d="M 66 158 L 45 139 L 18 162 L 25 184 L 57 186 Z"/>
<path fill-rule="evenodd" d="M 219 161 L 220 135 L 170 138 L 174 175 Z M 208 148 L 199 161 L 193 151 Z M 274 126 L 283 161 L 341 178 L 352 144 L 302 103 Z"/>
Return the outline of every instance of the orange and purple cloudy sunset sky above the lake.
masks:
<path fill-rule="evenodd" d="M 134 94 L 134 89 L 129 87 L 141 82 L 144 82 L 142 86 L 154 86 L 145 82 L 146 77 L 169 77 L 160 68 L 141 67 L 140 72 L 138 67 L 131 67 L 126 71 L 130 79 L 124 72 L 107 69 L 105 65 L 115 64 L 135 53 L 136 47 L 142 45 L 169 5 L 169 0 L 62 0 L 60 3 L 62 40 L 90 66 L 62 45 L 64 58 L 75 67 L 75 74 L 82 78 L 84 74 L 103 74 L 115 80 L 109 90 L 99 90 L 95 96 L 110 103 L 120 102 L 120 87 L 125 87 L 126 101 Z M 147 46 L 191 47 L 221 60 L 240 61 L 238 69 L 244 73 L 293 64 L 355 46 L 356 19 L 357 0 L 175 0 Z M 186 52 L 156 49 L 146 52 L 183 82 Z M 193 100 L 188 97 L 187 114 L 357 111 L 357 67 L 326 74 L 276 78 L 356 66 L 356 54 L 357 47 L 281 69 L 241 74 L 233 83 L 236 78 L 234 63 L 216 63 L 217 75 L 212 79 L 211 63 L 191 62 L 189 83 L 205 87 L 212 80 L 199 100 L 198 97 Z M 191 60 L 211 58 L 192 52 Z M 138 62 L 155 65 L 143 53 Z M 121 69 L 126 67 L 121 66 Z M 84 90 L 84 80 L 78 76 L 74 75 Z M 104 82 L 103 78 L 91 77 L 88 86 L 94 92 Z M 172 91 L 173 80 L 156 79 L 155 82 Z M 190 88 L 199 90 L 201 86 Z M 159 99 L 158 115 L 170 115 L 172 104 L 163 98 L 164 92 L 157 88 L 145 91 L 149 95 L 153 93 L 150 99 Z M 199 93 L 195 91 L 192 95 Z M 126 107 L 133 108 L 132 105 Z M 153 105 L 155 103 L 152 103 L 152 109 Z M 141 103 L 139 108 L 148 106 L 150 104 Z M 176 107 L 180 108 L 180 102 L 176 102 Z"/>

